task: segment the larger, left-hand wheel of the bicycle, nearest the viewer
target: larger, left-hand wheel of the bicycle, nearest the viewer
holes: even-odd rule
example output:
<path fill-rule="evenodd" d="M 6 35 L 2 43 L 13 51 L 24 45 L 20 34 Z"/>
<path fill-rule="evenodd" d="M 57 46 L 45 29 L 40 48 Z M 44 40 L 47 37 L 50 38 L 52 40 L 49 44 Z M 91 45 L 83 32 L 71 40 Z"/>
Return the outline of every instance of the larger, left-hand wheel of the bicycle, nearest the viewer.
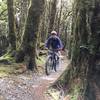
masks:
<path fill-rule="evenodd" d="M 46 75 L 50 75 L 51 71 L 52 71 L 52 59 L 51 59 L 51 57 L 49 57 L 45 64 Z"/>

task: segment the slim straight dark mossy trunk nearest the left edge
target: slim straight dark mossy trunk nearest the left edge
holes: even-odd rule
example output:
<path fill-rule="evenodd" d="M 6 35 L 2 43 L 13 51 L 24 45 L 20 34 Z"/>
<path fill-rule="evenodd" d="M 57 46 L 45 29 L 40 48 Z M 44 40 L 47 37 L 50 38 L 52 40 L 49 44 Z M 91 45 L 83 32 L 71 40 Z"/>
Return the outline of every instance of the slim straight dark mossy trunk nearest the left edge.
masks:
<path fill-rule="evenodd" d="M 8 26 L 9 26 L 9 43 L 11 45 L 11 51 L 16 50 L 16 36 L 15 36 L 15 19 L 13 0 L 7 0 L 8 7 Z"/>

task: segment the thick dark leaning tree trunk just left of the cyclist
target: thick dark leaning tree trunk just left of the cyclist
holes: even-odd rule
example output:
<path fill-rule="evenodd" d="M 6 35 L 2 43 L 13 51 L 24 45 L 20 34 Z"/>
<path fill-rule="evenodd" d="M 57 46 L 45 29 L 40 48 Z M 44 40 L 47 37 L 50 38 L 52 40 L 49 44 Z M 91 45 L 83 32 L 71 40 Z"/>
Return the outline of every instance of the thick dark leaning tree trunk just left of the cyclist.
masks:
<path fill-rule="evenodd" d="M 23 42 L 21 45 L 23 56 L 29 58 L 27 68 L 30 70 L 36 69 L 36 45 L 40 16 L 44 9 L 44 0 L 31 0 L 31 5 L 28 11 L 28 17 L 23 34 Z M 20 52 L 21 53 L 21 52 Z M 18 59 L 17 59 L 18 60 Z"/>

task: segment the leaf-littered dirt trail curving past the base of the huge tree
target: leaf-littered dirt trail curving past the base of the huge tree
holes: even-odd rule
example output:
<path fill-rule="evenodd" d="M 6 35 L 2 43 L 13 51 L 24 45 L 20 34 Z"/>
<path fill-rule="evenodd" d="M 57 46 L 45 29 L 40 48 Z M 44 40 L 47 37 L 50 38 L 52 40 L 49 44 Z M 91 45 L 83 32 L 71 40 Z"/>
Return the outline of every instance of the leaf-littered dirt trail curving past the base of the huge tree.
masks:
<path fill-rule="evenodd" d="M 53 100 L 46 91 L 60 77 L 68 64 L 69 60 L 64 56 L 58 71 L 52 72 L 49 76 L 45 73 L 27 71 L 1 77 L 0 100 Z"/>

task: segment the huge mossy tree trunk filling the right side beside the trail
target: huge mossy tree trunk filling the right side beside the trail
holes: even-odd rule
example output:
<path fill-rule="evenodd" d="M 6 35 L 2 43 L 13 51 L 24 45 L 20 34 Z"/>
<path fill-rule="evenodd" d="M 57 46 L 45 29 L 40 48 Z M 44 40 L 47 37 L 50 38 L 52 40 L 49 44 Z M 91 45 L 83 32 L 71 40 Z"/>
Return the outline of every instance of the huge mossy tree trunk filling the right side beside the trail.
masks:
<path fill-rule="evenodd" d="M 64 85 L 81 79 L 83 100 L 97 100 L 91 82 L 100 61 L 100 0 L 75 0 L 72 22 L 71 66 L 63 74 Z M 62 79 L 61 79 L 62 81 Z M 98 80 L 97 80 L 98 83 Z M 91 86 L 92 84 L 92 86 Z M 90 89 L 92 88 L 92 89 Z M 94 96 L 94 97 L 93 97 Z"/>

